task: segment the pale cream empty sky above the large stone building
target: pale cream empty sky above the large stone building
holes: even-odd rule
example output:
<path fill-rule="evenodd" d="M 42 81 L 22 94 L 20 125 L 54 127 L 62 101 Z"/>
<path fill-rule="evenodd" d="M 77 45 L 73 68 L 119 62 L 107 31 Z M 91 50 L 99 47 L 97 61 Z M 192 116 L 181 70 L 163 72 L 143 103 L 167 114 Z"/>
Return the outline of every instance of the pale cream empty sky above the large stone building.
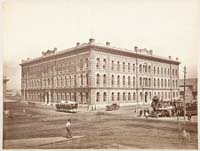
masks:
<path fill-rule="evenodd" d="M 3 10 L 4 75 L 20 89 L 22 59 L 88 42 L 152 49 L 179 58 L 197 77 L 198 0 L 7 0 Z"/>

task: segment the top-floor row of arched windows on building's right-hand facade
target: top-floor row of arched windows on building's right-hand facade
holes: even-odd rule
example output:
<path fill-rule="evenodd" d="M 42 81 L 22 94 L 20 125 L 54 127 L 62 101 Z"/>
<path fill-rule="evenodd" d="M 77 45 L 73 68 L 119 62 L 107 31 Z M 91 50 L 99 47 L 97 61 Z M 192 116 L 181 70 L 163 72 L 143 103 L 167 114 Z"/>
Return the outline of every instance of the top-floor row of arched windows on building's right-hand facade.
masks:
<path fill-rule="evenodd" d="M 103 59 L 103 69 L 106 69 L 106 65 L 107 65 L 107 63 L 106 63 L 106 59 Z M 116 69 L 117 69 L 117 71 L 120 71 L 120 62 L 119 61 L 117 61 L 117 67 L 116 67 Z M 97 68 L 100 68 L 100 58 L 97 58 L 97 62 L 96 62 L 96 67 Z M 115 62 L 114 62 L 114 60 L 112 60 L 111 61 L 111 70 L 115 70 Z M 123 62 L 122 63 L 122 71 L 123 72 L 125 72 L 125 71 L 128 71 L 128 72 L 130 72 L 130 71 L 133 71 L 133 72 L 135 72 L 136 71 L 136 65 L 135 64 L 130 64 L 130 63 L 127 63 L 127 67 L 126 67 L 126 63 L 125 62 Z M 139 73 L 151 73 L 151 65 L 148 65 L 148 64 L 140 64 L 139 65 Z M 167 69 L 167 68 L 160 68 L 160 67 L 154 67 L 153 68 L 153 73 L 154 74 L 157 74 L 157 75 L 170 75 L 170 69 Z M 174 76 L 174 75 L 178 75 L 178 71 L 177 71 L 177 69 L 172 69 L 172 75 Z"/>

